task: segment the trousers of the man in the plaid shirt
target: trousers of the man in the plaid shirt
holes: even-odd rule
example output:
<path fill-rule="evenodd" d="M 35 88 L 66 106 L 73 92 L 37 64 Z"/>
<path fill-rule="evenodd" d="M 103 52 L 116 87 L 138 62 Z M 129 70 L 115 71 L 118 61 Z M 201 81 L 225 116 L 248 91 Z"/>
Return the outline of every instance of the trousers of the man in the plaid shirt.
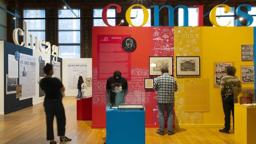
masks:
<path fill-rule="evenodd" d="M 159 130 L 164 131 L 164 111 L 166 108 L 167 111 L 167 130 L 172 131 L 173 128 L 173 106 L 174 103 L 158 103 L 158 121 L 159 121 Z"/>

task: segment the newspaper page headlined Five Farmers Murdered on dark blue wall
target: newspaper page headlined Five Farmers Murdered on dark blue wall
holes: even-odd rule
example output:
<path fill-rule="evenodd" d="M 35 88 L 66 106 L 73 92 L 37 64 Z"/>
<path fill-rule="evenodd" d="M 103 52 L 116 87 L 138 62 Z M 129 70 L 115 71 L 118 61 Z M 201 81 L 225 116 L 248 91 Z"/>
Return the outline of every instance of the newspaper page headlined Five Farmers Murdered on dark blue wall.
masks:
<path fill-rule="evenodd" d="M 36 58 L 26 54 L 20 54 L 20 84 L 22 97 L 20 100 L 36 95 Z"/>

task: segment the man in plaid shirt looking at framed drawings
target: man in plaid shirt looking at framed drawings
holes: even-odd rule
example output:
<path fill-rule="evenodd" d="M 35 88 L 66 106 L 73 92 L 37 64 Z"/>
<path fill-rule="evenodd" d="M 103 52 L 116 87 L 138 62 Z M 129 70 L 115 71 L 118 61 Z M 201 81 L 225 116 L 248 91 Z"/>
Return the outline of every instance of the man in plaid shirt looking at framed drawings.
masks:
<path fill-rule="evenodd" d="M 153 89 L 157 91 L 158 121 L 159 130 L 157 134 L 164 135 L 164 111 L 167 111 L 168 135 L 173 135 L 173 106 L 174 92 L 178 90 L 176 80 L 168 74 L 167 67 L 161 68 L 162 75 L 155 78 Z"/>

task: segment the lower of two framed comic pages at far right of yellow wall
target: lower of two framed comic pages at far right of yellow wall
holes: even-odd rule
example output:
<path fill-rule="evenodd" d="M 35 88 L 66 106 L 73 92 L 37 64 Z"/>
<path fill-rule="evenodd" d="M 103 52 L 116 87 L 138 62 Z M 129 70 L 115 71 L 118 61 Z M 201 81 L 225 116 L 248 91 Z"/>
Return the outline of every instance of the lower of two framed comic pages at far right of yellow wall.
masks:
<path fill-rule="evenodd" d="M 241 82 L 254 83 L 254 66 L 241 66 Z"/>

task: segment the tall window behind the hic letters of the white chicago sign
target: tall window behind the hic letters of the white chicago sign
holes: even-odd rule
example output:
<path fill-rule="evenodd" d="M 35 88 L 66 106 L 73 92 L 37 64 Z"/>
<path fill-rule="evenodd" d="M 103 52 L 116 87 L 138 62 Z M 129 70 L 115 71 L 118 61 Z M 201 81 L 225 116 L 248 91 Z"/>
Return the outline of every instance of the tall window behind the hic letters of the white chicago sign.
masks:
<path fill-rule="evenodd" d="M 36 18 L 45 18 L 45 10 L 23 10 L 23 18 L 35 18 L 24 20 L 28 24 L 28 33 L 32 34 L 33 37 L 45 40 L 45 20 Z M 24 29 L 24 25 L 23 25 Z M 23 37 L 25 38 L 25 37 Z M 28 37 L 28 43 L 30 45 L 30 36 Z M 35 45 L 35 39 L 33 39 Z M 43 46 L 45 48 L 45 46 Z"/>

